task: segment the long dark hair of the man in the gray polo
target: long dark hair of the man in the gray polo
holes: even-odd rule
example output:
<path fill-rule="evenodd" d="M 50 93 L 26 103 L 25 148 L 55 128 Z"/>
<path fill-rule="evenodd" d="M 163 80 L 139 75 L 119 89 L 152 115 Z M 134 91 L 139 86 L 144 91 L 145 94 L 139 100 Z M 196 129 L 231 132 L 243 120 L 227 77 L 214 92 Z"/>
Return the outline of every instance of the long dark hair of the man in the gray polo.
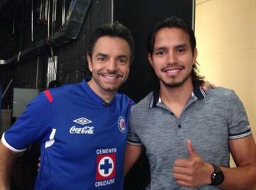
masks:
<path fill-rule="evenodd" d="M 154 51 L 154 42 L 155 42 L 155 35 L 156 33 L 161 30 L 162 28 L 179 28 L 183 30 L 185 33 L 189 36 L 189 41 L 191 43 L 191 50 L 194 54 L 194 50 L 196 48 L 196 37 L 193 33 L 193 30 L 191 27 L 188 27 L 185 21 L 183 21 L 181 18 L 177 18 L 176 16 L 172 16 L 171 18 L 165 18 L 163 21 L 160 21 L 159 23 L 156 23 L 154 28 L 151 30 L 148 36 L 147 40 L 147 51 L 150 55 L 153 55 Z M 193 70 L 191 73 L 193 84 L 203 84 L 204 77 L 201 77 L 198 74 L 198 62 L 196 62 L 195 65 L 193 65 Z"/>

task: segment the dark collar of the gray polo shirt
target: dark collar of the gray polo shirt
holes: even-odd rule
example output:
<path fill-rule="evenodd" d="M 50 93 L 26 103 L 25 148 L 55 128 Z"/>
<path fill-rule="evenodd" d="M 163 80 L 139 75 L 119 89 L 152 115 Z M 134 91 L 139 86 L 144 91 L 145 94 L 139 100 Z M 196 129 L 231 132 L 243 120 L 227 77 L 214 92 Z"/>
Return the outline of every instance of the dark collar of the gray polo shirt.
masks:
<path fill-rule="evenodd" d="M 191 98 L 192 99 L 198 99 L 198 100 L 202 100 L 204 97 L 206 97 L 206 91 L 204 91 L 200 86 L 198 85 L 194 85 L 193 86 L 193 91 L 191 93 Z M 153 96 L 151 98 L 151 101 L 150 101 L 150 107 L 153 108 L 153 107 L 156 107 L 156 104 L 158 102 L 161 102 L 161 98 L 159 97 L 159 90 L 157 91 L 154 91 L 153 92 Z"/>

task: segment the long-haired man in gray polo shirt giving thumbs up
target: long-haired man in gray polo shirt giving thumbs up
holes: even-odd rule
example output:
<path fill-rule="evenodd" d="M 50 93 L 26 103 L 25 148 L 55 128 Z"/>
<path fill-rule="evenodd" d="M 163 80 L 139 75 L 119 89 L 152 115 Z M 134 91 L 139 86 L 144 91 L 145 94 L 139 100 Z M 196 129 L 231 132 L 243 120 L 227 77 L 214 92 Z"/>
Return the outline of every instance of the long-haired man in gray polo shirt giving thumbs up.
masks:
<path fill-rule="evenodd" d="M 245 108 L 232 90 L 199 87 L 193 30 L 179 18 L 161 21 L 149 35 L 148 53 L 159 90 L 132 108 L 125 171 L 145 149 L 146 189 L 255 187 L 256 146 Z"/>

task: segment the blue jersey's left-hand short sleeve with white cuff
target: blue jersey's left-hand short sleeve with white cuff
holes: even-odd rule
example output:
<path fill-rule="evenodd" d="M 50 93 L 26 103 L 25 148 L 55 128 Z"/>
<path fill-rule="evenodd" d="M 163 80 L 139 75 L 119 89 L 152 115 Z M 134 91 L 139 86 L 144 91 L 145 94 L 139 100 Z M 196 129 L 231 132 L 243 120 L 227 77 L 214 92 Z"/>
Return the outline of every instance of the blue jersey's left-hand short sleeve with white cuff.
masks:
<path fill-rule="evenodd" d="M 31 143 L 45 141 L 53 126 L 51 104 L 42 92 L 2 135 L 2 143 L 14 152 L 23 152 Z"/>

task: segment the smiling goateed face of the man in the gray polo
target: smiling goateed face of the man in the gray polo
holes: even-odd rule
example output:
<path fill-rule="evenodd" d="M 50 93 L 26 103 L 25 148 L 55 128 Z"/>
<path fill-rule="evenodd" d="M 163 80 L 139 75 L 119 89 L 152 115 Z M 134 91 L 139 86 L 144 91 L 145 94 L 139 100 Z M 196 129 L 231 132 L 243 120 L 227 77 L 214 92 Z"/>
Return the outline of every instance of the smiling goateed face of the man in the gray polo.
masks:
<path fill-rule="evenodd" d="M 154 37 L 154 50 L 148 58 L 160 85 L 178 87 L 188 82 L 192 85 L 197 51 L 191 50 L 188 34 L 179 28 L 161 28 Z"/>

